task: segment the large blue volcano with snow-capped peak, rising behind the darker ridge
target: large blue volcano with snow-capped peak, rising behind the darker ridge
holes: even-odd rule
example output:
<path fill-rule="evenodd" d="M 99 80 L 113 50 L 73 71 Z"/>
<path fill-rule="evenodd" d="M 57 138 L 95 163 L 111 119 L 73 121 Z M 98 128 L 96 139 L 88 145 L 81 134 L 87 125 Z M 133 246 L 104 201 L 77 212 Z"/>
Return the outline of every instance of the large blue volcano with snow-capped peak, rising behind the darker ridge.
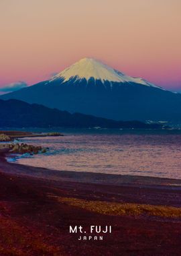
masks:
<path fill-rule="evenodd" d="M 181 123 L 181 94 L 130 77 L 92 58 L 50 80 L 1 96 L 115 120 Z"/>

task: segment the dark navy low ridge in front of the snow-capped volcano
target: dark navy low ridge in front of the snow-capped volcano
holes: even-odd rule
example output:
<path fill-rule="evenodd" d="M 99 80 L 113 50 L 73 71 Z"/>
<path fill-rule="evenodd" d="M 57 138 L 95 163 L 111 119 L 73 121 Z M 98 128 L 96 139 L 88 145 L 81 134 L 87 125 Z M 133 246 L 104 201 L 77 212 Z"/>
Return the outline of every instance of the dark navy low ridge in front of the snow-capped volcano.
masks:
<path fill-rule="evenodd" d="M 0 100 L 0 127 L 88 127 L 157 129 L 162 125 L 147 125 L 139 121 L 113 121 L 79 113 L 28 104 L 21 100 Z"/>

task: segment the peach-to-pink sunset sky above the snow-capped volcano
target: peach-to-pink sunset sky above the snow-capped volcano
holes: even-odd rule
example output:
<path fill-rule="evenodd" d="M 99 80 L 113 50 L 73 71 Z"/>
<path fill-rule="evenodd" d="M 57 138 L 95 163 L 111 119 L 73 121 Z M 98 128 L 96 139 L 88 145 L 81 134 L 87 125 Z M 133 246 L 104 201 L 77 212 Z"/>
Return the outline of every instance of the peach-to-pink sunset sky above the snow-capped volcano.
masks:
<path fill-rule="evenodd" d="M 0 87 L 83 57 L 181 91 L 180 0 L 1 0 Z"/>

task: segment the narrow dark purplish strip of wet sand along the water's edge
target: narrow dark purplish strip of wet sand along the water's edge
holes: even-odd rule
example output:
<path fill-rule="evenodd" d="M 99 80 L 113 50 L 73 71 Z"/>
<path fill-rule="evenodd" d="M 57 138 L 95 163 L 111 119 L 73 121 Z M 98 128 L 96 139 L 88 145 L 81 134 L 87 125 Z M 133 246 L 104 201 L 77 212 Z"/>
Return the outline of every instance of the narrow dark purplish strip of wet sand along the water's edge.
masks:
<path fill-rule="evenodd" d="M 102 172 L 77 172 L 67 170 L 54 170 L 51 168 L 42 168 L 36 166 L 27 166 L 24 164 L 10 163 L 5 159 L 5 154 L 0 150 L 0 167 L 9 174 L 19 174 L 22 176 L 33 177 L 37 179 L 50 179 L 52 181 L 70 181 L 79 183 L 93 183 L 103 185 L 122 185 L 135 187 L 162 187 L 181 189 L 181 179 L 170 179 L 162 177 L 149 177 L 124 174 L 107 174 Z"/>

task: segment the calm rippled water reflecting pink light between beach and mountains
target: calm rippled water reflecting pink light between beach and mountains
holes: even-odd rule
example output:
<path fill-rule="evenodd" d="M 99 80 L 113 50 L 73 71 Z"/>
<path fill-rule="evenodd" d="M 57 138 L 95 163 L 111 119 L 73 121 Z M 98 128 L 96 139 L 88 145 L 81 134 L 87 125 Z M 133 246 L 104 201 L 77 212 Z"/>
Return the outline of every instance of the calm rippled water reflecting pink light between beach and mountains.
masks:
<path fill-rule="evenodd" d="M 48 147 L 46 154 L 9 161 L 54 170 L 181 179 L 181 134 L 63 131 L 64 137 L 19 140 Z"/>

